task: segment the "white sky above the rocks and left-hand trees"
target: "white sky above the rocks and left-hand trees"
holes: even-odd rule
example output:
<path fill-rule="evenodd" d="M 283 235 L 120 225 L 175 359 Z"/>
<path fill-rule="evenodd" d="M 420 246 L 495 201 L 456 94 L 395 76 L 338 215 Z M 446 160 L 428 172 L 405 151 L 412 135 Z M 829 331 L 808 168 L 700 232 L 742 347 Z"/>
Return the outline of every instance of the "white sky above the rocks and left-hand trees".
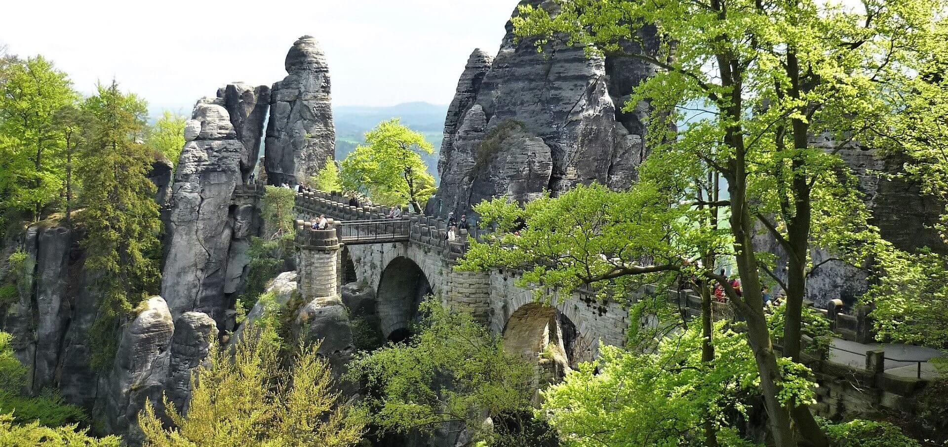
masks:
<path fill-rule="evenodd" d="M 113 77 L 153 110 L 233 81 L 272 84 L 303 34 L 329 62 L 335 105 L 450 102 L 475 47 L 495 53 L 517 0 L 27 0 L 3 2 L 0 44 L 43 54 L 77 89 Z M 180 110 L 179 110 L 180 109 Z"/>

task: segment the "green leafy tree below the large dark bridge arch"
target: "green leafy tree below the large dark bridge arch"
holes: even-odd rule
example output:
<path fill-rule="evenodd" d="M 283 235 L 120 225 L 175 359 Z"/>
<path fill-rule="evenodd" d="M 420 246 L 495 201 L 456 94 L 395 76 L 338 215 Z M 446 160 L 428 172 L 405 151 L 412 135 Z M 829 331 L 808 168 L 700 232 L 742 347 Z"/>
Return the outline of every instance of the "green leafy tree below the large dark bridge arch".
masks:
<path fill-rule="evenodd" d="M 487 439 L 485 414 L 530 412 L 533 370 L 526 363 L 506 353 L 466 313 L 430 300 L 421 311 L 420 331 L 408 343 L 362 353 L 350 365 L 349 380 L 370 390 L 364 404 L 375 424 L 392 432 L 433 433 L 458 422 Z"/>

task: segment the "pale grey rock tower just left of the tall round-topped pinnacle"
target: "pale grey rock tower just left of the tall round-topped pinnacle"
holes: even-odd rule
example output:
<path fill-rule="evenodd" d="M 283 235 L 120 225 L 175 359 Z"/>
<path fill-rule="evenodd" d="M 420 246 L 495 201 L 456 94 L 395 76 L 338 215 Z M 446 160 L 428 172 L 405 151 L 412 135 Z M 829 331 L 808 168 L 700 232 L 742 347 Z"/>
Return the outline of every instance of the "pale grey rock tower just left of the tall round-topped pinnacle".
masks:
<path fill-rule="evenodd" d="M 228 310 L 242 287 L 249 239 L 260 231 L 255 197 L 235 191 L 252 170 L 247 160 L 256 157 L 246 144 L 259 145 L 265 91 L 228 85 L 218 98 L 197 102 L 185 128 L 161 285 L 174 318 L 198 310 L 233 329 Z"/>

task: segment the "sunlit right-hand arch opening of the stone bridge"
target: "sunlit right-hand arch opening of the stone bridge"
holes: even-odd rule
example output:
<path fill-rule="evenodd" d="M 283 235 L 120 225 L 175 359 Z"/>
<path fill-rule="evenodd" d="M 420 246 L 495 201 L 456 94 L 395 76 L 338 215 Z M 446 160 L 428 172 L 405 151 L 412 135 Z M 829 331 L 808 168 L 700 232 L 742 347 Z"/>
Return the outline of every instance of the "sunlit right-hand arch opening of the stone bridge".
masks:
<path fill-rule="evenodd" d="M 562 312 L 539 303 L 518 308 L 503 327 L 503 347 L 536 367 L 536 389 L 559 382 L 573 365 L 579 333 Z"/>

